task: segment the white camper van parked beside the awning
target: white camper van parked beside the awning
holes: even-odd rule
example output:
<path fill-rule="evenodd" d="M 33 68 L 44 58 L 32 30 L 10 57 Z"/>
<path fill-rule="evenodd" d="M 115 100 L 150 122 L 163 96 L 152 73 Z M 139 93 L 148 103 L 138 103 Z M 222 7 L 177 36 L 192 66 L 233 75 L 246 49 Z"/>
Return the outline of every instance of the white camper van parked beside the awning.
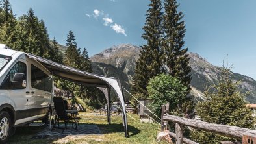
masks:
<path fill-rule="evenodd" d="M 0 45 L 0 143 L 14 127 L 44 119 L 52 94 L 52 76 L 42 64 Z"/>

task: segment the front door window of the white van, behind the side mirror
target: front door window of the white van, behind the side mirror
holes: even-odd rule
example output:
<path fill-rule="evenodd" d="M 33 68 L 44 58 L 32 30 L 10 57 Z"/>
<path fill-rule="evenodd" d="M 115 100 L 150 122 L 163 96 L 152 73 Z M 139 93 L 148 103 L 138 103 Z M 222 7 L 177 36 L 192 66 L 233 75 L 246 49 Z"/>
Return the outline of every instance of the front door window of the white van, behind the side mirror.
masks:
<path fill-rule="evenodd" d="M 27 65 L 24 62 L 17 62 L 12 69 L 10 69 L 9 73 L 6 75 L 3 80 L 3 84 L 0 86 L 1 89 L 23 89 L 25 87 L 17 86 L 15 82 L 13 82 L 13 78 L 15 73 L 23 73 L 24 80 L 27 80 Z"/>

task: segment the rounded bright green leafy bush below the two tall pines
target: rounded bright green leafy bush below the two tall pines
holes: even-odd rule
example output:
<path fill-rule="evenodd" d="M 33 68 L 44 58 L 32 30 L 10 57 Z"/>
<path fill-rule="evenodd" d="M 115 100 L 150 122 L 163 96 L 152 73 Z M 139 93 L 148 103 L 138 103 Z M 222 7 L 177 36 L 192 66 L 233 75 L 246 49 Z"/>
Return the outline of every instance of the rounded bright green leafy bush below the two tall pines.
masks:
<path fill-rule="evenodd" d="M 161 115 L 161 106 L 170 102 L 170 114 L 173 115 L 185 115 L 188 110 L 187 106 L 190 106 L 190 99 L 186 97 L 187 88 L 184 86 L 177 77 L 171 75 L 160 74 L 155 78 L 149 80 L 147 86 L 147 92 L 149 98 L 153 101 L 151 108 L 153 112 L 159 117 Z"/>

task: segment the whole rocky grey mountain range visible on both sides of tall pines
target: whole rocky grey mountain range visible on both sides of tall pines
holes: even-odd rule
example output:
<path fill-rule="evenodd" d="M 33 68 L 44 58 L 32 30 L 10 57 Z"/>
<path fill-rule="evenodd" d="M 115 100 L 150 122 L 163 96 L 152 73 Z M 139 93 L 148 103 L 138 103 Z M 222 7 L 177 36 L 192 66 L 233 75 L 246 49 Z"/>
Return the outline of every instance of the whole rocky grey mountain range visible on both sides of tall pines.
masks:
<path fill-rule="evenodd" d="M 122 44 L 110 47 L 105 51 L 95 54 L 90 58 L 94 73 L 119 78 L 122 86 L 129 90 L 134 75 L 136 58 L 140 54 L 140 47 L 131 44 Z M 220 78 L 221 67 L 214 66 L 207 62 L 197 53 L 188 53 L 192 67 L 192 95 L 196 99 L 203 100 L 203 91 L 206 86 L 216 84 Z M 248 92 L 246 100 L 250 103 L 256 102 L 256 81 L 245 75 L 231 73 L 233 81 L 240 81 L 239 90 L 242 93 Z"/>

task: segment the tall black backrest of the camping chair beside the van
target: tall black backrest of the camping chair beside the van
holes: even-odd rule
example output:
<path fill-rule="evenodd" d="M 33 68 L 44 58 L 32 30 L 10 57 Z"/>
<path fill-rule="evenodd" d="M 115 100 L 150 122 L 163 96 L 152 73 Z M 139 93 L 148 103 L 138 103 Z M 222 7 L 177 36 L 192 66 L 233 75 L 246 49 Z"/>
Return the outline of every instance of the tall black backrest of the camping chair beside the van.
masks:
<path fill-rule="evenodd" d="M 68 120 L 68 115 L 65 110 L 64 101 L 62 97 L 53 97 L 53 103 L 55 107 L 55 111 L 60 120 Z"/>

